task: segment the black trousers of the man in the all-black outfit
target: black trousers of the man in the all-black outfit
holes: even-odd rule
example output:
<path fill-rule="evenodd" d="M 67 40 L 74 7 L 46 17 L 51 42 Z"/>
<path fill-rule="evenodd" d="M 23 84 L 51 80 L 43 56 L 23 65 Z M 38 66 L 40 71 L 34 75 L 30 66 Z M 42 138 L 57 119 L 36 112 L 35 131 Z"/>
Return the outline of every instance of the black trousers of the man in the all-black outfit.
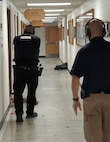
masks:
<path fill-rule="evenodd" d="M 16 114 L 23 114 L 23 92 L 27 84 L 27 111 L 31 115 L 36 103 L 36 88 L 38 86 L 38 69 L 34 67 L 16 67 L 14 66 L 14 103 Z"/>

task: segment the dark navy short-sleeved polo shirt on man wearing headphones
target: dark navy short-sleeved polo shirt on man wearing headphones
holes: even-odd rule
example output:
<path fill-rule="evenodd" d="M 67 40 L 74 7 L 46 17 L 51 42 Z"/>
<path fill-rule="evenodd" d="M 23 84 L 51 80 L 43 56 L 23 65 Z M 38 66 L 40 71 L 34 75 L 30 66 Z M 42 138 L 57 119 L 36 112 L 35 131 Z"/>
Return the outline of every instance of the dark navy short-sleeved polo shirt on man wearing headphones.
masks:
<path fill-rule="evenodd" d="M 82 88 L 88 93 L 110 90 L 110 42 L 93 38 L 78 51 L 70 74 L 83 77 Z"/>

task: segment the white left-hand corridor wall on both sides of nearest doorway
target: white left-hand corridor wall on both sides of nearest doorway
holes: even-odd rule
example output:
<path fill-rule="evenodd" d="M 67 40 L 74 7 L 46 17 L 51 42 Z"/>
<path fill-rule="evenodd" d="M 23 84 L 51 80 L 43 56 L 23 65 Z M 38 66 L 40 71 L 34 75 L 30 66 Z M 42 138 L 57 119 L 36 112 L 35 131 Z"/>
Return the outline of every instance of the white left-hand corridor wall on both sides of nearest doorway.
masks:
<path fill-rule="evenodd" d="M 11 9 L 11 41 L 15 36 L 14 13 L 22 14 L 7 0 L 0 1 L 0 122 L 9 106 L 9 65 L 8 65 L 8 26 L 7 26 L 7 8 Z M 12 10 L 13 9 L 13 10 Z M 27 22 L 22 16 L 22 21 Z M 2 37 L 2 39 L 1 39 Z M 1 43 L 3 46 L 1 47 Z M 13 47 L 13 45 L 12 45 Z M 13 48 L 12 48 L 13 51 Z M 13 58 L 13 57 L 12 57 Z"/>

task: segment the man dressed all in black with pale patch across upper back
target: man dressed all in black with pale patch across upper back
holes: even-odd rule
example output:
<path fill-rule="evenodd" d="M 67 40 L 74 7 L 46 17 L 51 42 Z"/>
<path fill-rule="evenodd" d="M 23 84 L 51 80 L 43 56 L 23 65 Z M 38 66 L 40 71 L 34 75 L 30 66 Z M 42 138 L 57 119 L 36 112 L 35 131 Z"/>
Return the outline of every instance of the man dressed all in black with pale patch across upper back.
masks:
<path fill-rule="evenodd" d="M 40 38 L 34 35 L 34 27 L 28 25 L 24 34 L 16 36 L 14 43 L 14 103 L 16 122 L 23 122 L 23 96 L 25 85 L 28 87 L 27 94 L 27 116 L 26 118 L 37 117 L 34 112 L 36 104 L 35 92 L 38 85 L 38 56 Z"/>

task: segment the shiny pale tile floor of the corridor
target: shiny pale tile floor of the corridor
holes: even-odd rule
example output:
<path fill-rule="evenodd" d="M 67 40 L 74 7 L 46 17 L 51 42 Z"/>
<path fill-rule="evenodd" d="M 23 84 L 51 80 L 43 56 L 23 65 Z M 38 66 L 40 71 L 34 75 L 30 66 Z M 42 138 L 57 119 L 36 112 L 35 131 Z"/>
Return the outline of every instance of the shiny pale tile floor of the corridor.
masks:
<path fill-rule="evenodd" d="M 40 101 L 35 107 L 38 117 L 26 119 L 24 114 L 24 122 L 16 124 L 14 107 L 11 107 L 0 130 L 1 142 L 85 142 L 83 112 L 78 112 L 76 117 L 72 109 L 69 72 L 54 70 L 61 64 L 58 58 L 40 60 L 44 70 L 36 92 Z"/>

